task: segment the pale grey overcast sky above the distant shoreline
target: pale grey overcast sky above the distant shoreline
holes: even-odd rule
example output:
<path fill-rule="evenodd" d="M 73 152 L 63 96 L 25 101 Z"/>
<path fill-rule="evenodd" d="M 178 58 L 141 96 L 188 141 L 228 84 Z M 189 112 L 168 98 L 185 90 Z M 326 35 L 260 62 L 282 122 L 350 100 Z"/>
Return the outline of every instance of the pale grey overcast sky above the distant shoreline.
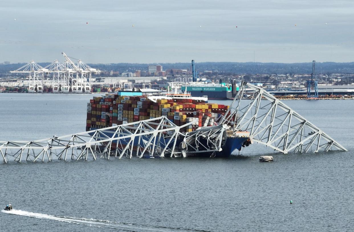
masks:
<path fill-rule="evenodd" d="M 354 61 L 352 0 L 0 0 L 0 20 L 0 63 Z"/>

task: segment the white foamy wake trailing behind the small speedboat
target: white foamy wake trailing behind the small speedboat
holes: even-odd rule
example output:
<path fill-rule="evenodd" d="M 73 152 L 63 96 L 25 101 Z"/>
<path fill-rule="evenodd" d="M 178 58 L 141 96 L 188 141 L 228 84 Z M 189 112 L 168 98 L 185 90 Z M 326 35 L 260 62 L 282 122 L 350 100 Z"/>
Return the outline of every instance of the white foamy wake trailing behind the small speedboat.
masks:
<path fill-rule="evenodd" d="M 40 213 L 33 213 L 33 212 L 28 212 L 24 210 L 18 210 L 18 209 L 12 209 L 11 211 L 7 210 L 1 210 L 2 213 L 6 214 L 15 214 L 15 215 L 21 215 L 21 216 L 28 216 L 32 218 L 39 218 L 39 219 L 50 219 L 50 220 L 56 220 L 56 221 L 62 221 L 62 222 L 69 222 L 69 223 L 75 223 L 75 224 L 86 224 L 86 225 L 103 225 L 107 227 L 114 227 L 114 228 L 120 228 L 124 229 L 127 231 L 159 231 L 159 232 L 171 232 L 171 231 L 176 231 L 176 229 L 170 229 L 166 230 L 164 228 L 152 228 L 152 227 L 146 227 L 146 226 L 139 226 L 139 225 L 132 225 L 132 224 L 125 224 L 125 223 L 120 223 L 120 222 L 114 222 L 114 221 L 105 221 L 105 220 L 96 220 L 96 219 L 87 219 L 87 218 L 73 218 L 73 217 L 62 217 L 62 216 L 54 216 L 54 215 L 49 215 L 49 214 L 40 214 Z"/>

